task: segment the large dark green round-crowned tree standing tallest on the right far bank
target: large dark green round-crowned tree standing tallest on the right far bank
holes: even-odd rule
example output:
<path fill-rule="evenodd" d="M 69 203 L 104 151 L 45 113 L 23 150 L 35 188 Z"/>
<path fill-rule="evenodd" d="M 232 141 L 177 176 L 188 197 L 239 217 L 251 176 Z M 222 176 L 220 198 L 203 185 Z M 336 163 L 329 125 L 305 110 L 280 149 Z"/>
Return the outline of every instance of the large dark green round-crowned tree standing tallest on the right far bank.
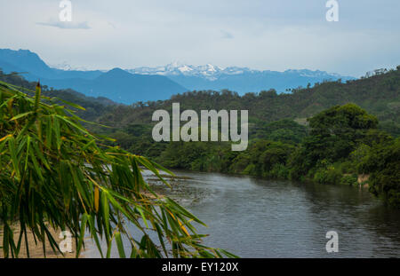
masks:
<path fill-rule="evenodd" d="M 292 177 L 300 178 L 324 164 L 348 159 L 360 144 L 380 140 L 378 120 L 354 104 L 333 106 L 308 119 L 310 135 L 292 156 Z M 324 162 L 323 162 L 324 161 Z"/>

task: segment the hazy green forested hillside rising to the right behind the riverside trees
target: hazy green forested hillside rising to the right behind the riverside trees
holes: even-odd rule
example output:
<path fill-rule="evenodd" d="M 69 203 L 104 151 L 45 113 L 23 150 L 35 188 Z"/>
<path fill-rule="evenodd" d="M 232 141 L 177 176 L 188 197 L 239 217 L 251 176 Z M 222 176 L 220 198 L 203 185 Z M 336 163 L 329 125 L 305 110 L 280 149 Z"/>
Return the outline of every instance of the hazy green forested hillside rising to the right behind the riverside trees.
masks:
<path fill-rule="evenodd" d="M 180 109 L 237 109 L 249 110 L 250 122 L 274 122 L 292 119 L 305 122 L 313 114 L 331 106 L 348 102 L 361 106 L 380 121 L 380 128 L 400 135 L 400 67 L 380 72 L 347 83 L 325 82 L 314 87 L 277 94 L 276 91 L 261 91 L 239 96 L 232 91 L 191 91 L 174 95 L 169 100 L 136 103 L 132 106 L 116 106 L 113 112 L 100 118 L 112 125 L 147 123 L 156 109 L 172 109 L 179 102 Z"/>

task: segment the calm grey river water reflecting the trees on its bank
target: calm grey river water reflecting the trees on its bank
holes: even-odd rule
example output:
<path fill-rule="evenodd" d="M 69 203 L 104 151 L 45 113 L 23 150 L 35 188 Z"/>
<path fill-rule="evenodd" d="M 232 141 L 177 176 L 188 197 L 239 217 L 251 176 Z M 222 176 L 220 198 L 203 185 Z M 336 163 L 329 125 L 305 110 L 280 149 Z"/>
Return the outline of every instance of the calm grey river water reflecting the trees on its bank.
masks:
<path fill-rule="evenodd" d="M 197 229 L 214 248 L 241 257 L 400 257 L 400 212 L 366 188 L 175 173 L 188 178 L 168 195 L 208 225 Z M 337 253 L 326 251 L 329 231 L 338 233 Z"/>

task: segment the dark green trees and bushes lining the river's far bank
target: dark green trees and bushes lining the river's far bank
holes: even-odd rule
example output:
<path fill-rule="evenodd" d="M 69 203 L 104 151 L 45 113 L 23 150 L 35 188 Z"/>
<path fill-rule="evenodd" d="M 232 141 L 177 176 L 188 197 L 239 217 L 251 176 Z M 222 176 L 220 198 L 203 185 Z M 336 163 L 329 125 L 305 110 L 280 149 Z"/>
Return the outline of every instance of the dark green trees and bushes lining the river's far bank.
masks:
<path fill-rule="evenodd" d="M 231 152 L 228 143 L 169 143 L 152 158 L 171 170 L 363 185 L 400 207 L 399 138 L 379 130 L 377 118 L 354 104 L 333 106 L 308 123 L 300 142 L 257 138 L 243 153 Z"/>

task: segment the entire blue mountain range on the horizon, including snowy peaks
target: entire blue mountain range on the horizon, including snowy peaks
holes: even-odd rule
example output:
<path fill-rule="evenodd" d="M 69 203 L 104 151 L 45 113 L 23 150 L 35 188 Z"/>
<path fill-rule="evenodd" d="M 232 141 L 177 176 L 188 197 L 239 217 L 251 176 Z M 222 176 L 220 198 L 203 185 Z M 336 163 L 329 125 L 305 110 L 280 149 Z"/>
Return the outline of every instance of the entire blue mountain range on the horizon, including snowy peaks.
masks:
<path fill-rule="evenodd" d="M 325 80 L 343 81 L 351 76 L 328 74 L 324 71 L 286 70 L 260 71 L 247 67 L 191 66 L 172 63 L 165 67 L 114 68 L 77 70 L 67 63 L 49 67 L 32 51 L 0 49 L 0 69 L 17 72 L 28 81 L 37 81 L 55 89 L 73 89 L 92 97 L 106 97 L 119 103 L 170 99 L 185 91 L 228 89 L 243 95 L 275 89 L 284 92 L 299 86 L 314 85 Z"/>

